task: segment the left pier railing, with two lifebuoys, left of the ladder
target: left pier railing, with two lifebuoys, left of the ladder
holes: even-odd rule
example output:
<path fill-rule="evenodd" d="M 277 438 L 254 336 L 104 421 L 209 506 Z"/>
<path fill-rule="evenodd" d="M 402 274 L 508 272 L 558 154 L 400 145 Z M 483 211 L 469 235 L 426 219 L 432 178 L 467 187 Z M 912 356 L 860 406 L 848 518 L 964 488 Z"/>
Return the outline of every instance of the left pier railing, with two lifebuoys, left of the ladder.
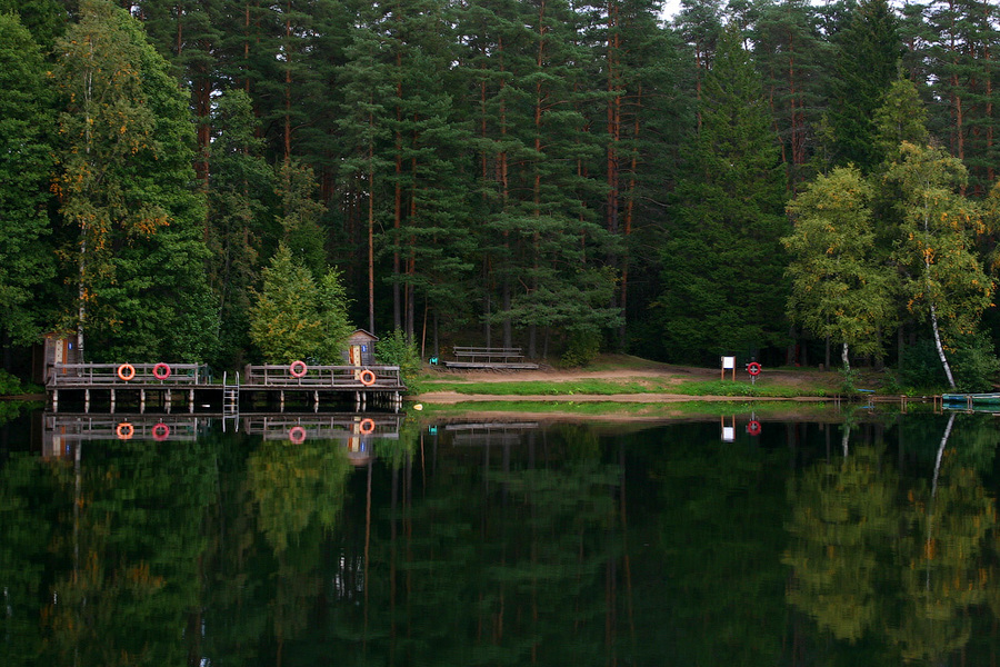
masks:
<path fill-rule="evenodd" d="M 128 387 L 162 385 L 191 387 L 209 385 L 211 369 L 201 364 L 56 364 L 49 387 Z"/>

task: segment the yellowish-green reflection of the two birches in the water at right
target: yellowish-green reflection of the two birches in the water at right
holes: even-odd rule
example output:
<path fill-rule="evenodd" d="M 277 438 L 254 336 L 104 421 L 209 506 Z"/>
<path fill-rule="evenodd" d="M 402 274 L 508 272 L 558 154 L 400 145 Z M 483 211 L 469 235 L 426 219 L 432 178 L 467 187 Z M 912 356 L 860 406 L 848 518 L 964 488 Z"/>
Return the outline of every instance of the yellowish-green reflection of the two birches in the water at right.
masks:
<path fill-rule="evenodd" d="M 991 465 L 998 434 L 981 420 L 951 432 L 954 419 L 934 424 L 937 440 L 910 422 L 922 476 L 901 478 L 883 446 L 863 444 L 790 481 L 787 598 L 833 637 L 882 637 L 896 659 L 943 664 L 997 596 L 994 499 L 977 466 Z"/>

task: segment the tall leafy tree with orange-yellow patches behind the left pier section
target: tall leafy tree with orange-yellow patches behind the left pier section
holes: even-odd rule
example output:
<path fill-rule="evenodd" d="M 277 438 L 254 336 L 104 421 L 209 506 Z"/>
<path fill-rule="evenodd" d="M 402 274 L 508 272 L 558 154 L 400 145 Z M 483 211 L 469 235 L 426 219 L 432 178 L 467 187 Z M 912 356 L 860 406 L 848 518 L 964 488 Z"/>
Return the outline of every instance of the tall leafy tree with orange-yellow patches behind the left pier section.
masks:
<path fill-rule="evenodd" d="M 78 349 L 87 330 L 98 357 L 204 359 L 217 321 L 187 93 L 141 24 L 107 0 L 81 2 L 56 51 L 56 189 L 74 238 L 63 257 Z"/>

